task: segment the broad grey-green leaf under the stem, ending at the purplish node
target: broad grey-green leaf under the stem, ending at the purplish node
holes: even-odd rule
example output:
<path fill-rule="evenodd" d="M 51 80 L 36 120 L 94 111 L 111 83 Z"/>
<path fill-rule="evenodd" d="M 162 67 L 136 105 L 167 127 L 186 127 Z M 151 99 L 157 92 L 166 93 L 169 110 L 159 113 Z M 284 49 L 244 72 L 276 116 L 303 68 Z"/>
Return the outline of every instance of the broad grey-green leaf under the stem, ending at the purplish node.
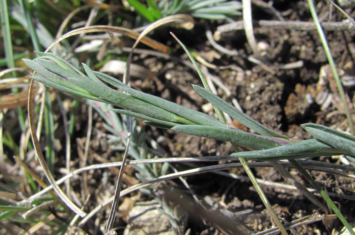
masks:
<path fill-rule="evenodd" d="M 273 137 L 261 136 L 251 134 L 239 129 L 221 128 L 213 126 L 202 126 L 202 125 L 179 125 L 171 128 L 172 130 L 194 136 L 201 136 L 212 138 L 215 140 L 222 140 L 233 142 L 241 146 L 264 149 L 278 147 L 281 144 L 289 143 L 285 142 L 284 139 L 277 139 Z M 279 143 L 278 141 L 283 143 Z"/>

